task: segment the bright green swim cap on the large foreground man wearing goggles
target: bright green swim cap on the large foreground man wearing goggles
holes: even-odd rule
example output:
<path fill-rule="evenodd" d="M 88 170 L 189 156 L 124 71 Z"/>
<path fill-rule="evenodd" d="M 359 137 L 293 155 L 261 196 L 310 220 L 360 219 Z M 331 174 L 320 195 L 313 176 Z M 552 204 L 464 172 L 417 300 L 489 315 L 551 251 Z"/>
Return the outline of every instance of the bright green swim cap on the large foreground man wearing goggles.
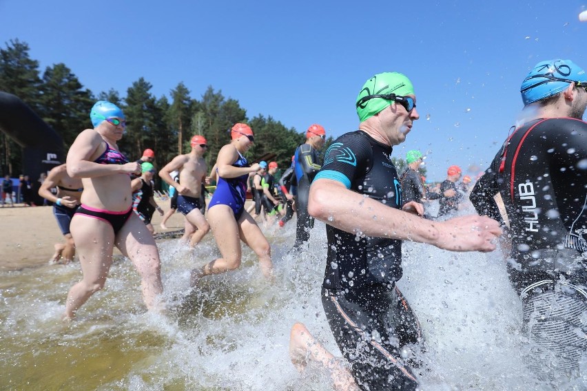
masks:
<path fill-rule="evenodd" d="M 399 96 L 413 95 L 414 87 L 409 78 L 404 74 L 398 72 L 383 72 L 376 74 L 370 78 L 367 83 L 364 83 L 359 96 L 357 96 L 357 102 L 363 96 L 376 95 L 376 94 L 396 94 Z M 384 98 L 372 98 L 369 101 L 362 103 L 357 106 L 357 114 L 359 120 L 363 122 L 378 114 L 382 109 L 390 106 L 393 101 Z"/>

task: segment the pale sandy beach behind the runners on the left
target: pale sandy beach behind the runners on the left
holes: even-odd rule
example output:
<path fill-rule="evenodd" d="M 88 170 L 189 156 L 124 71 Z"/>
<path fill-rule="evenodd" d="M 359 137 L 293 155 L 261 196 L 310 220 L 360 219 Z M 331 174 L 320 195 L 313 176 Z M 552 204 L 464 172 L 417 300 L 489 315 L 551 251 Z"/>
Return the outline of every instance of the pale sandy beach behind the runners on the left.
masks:
<path fill-rule="evenodd" d="M 169 209 L 169 200 L 158 202 L 163 211 Z M 183 215 L 174 213 L 167 220 L 167 229 L 159 227 L 162 216 L 155 212 L 153 226 L 156 233 L 183 229 Z M 63 242 L 63 235 L 53 217 L 52 207 L 0 208 L 0 270 L 13 271 L 21 268 L 45 265 L 53 255 L 53 245 Z M 59 266 L 59 265 L 56 265 Z"/>

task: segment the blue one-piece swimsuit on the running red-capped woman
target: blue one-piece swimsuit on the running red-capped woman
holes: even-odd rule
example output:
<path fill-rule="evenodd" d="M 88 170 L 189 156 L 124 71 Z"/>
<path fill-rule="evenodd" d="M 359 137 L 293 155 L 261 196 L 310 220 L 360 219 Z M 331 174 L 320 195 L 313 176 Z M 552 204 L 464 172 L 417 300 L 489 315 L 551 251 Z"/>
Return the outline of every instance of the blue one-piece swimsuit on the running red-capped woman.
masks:
<path fill-rule="evenodd" d="M 247 159 L 238 153 L 238 159 L 232 164 L 234 167 L 250 167 Z M 216 169 L 218 173 L 218 169 Z M 245 200 L 247 199 L 247 179 L 249 174 L 238 176 L 236 178 L 222 178 L 218 176 L 216 190 L 212 195 L 209 208 L 218 204 L 228 205 L 233 213 L 234 218 L 238 221 L 245 211 Z"/>

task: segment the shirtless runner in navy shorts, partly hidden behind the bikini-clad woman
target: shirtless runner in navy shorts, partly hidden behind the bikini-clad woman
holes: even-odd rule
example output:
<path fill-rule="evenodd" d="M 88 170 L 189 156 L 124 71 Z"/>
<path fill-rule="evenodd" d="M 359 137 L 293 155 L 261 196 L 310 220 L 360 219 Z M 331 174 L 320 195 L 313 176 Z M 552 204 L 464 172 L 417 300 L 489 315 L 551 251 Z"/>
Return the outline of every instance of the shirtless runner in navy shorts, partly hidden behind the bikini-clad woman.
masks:
<path fill-rule="evenodd" d="M 57 188 L 57 194 L 51 193 L 53 187 Z M 75 256 L 75 246 L 70 233 L 70 222 L 80 204 L 83 185 L 80 178 L 72 178 L 68 175 L 65 164 L 54 167 L 39 188 L 39 195 L 45 200 L 53 202 L 53 215 L 61 233 L 65 236 L 65 245 L 56 243 L 55 253 L 49 260 L 50 264 L 68 264 Z"/>

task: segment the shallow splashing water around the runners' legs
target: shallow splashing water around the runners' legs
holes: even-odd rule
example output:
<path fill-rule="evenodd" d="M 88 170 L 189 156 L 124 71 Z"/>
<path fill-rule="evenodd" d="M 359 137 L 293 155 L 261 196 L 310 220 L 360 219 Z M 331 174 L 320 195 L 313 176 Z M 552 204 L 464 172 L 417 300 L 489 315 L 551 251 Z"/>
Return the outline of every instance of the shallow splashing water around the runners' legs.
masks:
<path fill-rule="evenodd" d="M 145 313 L 138 276 L 122 258 L 69 324 L 59 317 L 79 263 L 1 273 L 0 390 L 331 390 L 320 368 L 300 375 L 289 361 L 295 321 L 340 355 L 320 303 L 324 225 L 316 222 L 311 251 L 287 254 L 294 224 L 265 230 L 273 285 L 245 248 L 240 270 L 187 293 L 189 270 L 217 255 L 212 235 L 194 251 L 158 242 L 165 316 Z M 499 253 L 406 243 L 399 286 L 426 338 L 423 390 L 587 387 L 582 379 L 541 383 L 526 368 L 521 304 Z"/>

